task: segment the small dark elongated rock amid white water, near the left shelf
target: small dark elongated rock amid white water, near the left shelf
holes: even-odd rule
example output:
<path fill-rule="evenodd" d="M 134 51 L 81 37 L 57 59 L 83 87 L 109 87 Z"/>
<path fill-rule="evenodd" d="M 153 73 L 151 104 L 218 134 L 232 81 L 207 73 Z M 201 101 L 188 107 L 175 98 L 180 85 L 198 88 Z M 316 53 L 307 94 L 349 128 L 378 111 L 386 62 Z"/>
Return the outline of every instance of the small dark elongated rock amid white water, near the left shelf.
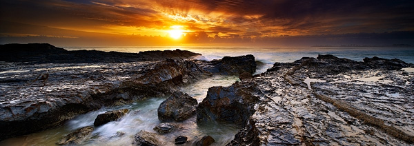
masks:
<path fill-rule="evenodd" d="M 93 123 L 93 125 L 100 126 L 110 121 L 117 121 L 119 118 L 122 118 L 122 116 L 125 116 L 128 112 L 128 109 L 123 109 L 99 114 L 97 118 L 95 118 L 95 122 Z"/>

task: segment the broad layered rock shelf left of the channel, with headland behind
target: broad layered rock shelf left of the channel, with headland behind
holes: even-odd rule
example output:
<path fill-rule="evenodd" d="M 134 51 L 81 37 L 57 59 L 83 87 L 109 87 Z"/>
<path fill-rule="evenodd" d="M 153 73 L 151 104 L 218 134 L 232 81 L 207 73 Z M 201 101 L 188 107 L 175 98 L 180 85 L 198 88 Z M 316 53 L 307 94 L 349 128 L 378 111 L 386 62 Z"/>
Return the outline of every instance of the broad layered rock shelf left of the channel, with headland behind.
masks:
<path fill-rule="evenodd" d="M 124 59 L 124 56 L 117 55 L 117 52 L 105 52 L 116 57 L 99 56 L 103 58 L 96 59 L 94 56 L 80 55 L 85 59 L 90 58 L 92 63 L 68 63 L 72 60 L 65 62 L 63 60 L 68 57 L 59 55 L 70 54 L 72 51 L 48 44 L 28 46 L 32 45 L 34 47 L 27 50 L 19 50 L 25 45 L 16 45 L 16 48 L 1 45 L 6 50 L 8 48 L 8 51 L 18 49 L 17 52 L 23 51 L 23 54 L 26 52 L 29 56 L 32 54 L 28 52 L 32 51 L 33 54 L 42 55 L 34 55 L 30 63 L 0 63 L 0 96 L 3 97 L 0 98 L 0 140 L 57 127 L 68 119 L 99 110 L 102 106 L 123 105 L 147 97 L 172 94 L 182 85 L 212 75 L 213 73 L 204 70 L 204 67 L 214 67 L 211 62 L 183 60 L 181 58 L 199 54 L 180 50 L 149 52 L 150 55 L 159 56 L 154 58 L 159 59 L 157 61 L 146 61 L 144 56 L 148 54 L 144 52 L 141 59 L 135 59 L 135 56 L 140 56 L 136 54 Z M 39 53 L 35 53 L 36 51 Z M 103 52 L 97 52 L 99 53 Z M 49 56 L 52 60 L 45 62 L 44 57 Z M 121 63 L 105 62 L 112 62 L 111 57 L 124 60 L 114 61 Z M 164 57 L 173 59 L 161 59 Z M 233 60 L 241 61 L 233 62 L 244 65 L 246 57 L 251 58 L 235 57 Z M 57 59 L 57 62 L 53 59 Z M 128 59 L 138 62 L 130 62 Z M 232 66 L 237 67 L 237 64 Z M 246 70 L 255 70 L 255 67 L 250 65 Z"/>

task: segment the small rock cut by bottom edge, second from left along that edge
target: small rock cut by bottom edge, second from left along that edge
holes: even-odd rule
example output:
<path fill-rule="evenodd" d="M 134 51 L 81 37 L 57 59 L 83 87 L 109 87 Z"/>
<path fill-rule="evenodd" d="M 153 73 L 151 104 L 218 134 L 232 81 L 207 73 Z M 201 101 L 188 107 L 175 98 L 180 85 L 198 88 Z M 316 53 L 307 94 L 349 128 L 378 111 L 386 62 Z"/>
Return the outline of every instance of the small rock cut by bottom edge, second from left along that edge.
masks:
<path fill-rule="evenodd" d="M 147 132 L 141 130 L 137 134 L 135 134 L 135 140 L 133 145 L 148 145 L 148 146 L 156 146 L 161 145 L 157 138 L 157 134 L 152 132 Z"/>

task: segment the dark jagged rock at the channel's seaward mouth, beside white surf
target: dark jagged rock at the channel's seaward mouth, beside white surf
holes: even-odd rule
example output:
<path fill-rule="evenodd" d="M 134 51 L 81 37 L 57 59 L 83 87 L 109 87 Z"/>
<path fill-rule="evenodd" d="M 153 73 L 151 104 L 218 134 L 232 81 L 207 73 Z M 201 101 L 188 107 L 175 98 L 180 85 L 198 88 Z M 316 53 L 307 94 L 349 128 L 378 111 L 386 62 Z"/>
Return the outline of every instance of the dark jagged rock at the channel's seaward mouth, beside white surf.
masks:
<path fill-rule="evenodd" d="M 255 56 L 249 54 L 246 56 L 224 56 L 223 59 L 213 60 L 203 69 L 213 74 L 238 75 L 243 72 L 250 74 L 256 71 Z"/>

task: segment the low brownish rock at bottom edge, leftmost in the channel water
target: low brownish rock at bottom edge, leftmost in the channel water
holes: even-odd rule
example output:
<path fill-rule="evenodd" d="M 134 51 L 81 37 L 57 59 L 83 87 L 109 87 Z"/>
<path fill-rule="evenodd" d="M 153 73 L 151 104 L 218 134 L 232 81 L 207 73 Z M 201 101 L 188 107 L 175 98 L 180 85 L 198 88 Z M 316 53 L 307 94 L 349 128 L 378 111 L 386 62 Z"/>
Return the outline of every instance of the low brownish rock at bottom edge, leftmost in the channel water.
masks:
<path fill-rule="evenodd" d="M 77 129 L 75 132 L 72 132 L 57 142 L 57 145 L 79 145 L 86 137 L 92 133 L 93 127 L 86 126 Z"/>

